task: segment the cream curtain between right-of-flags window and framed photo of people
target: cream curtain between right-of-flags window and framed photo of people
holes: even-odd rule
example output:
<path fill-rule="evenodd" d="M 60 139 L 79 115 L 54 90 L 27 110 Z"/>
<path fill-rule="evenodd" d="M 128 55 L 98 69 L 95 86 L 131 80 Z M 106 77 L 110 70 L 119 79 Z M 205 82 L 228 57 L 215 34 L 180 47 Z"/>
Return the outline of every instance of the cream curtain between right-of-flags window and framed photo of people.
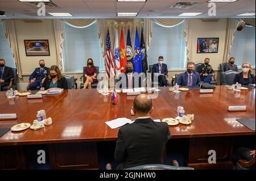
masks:
<path fill-rule="evenodd" d="M 191 19 L 185 19 L 184 24 L 184 39 L 187 47 L 187 61 L 192 61 L 192 28 Z"/>

